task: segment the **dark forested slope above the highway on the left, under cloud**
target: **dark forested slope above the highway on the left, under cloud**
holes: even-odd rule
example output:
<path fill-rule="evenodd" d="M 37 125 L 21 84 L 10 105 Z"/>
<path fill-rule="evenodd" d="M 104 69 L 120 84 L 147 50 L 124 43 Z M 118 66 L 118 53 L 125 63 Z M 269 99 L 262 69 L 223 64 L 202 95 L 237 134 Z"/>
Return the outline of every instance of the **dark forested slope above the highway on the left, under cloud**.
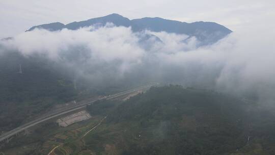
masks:
<path fill-rule="evenodd" d="M 1 53 L 0 74 L 0 133 L 30 121 L 54 105 L 125 89 L 121 86 L 91 88 L 81 77 L 75 89 L 75 70 L 66 63 L 38 54 L 22 56 L 16 51 Z"/>

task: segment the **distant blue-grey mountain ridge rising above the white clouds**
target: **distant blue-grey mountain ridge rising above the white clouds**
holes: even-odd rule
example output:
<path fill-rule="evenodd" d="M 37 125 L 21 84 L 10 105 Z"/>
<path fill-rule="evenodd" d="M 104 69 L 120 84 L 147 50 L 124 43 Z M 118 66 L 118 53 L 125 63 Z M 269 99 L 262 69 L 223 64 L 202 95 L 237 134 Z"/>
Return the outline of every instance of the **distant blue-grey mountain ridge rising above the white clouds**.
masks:
<path fill-rule="evenodd" d="M 168 20 L 159 17 L 145 17 L 141 19 L 128 19 L 119 14 L 110 14 L 103 17 L 92 18 L 85 21 L 71 22 L 63 24 L 61 22 L 53 22 L 48 24 L 37 25 L 26 31 L 33 31 L 34 29 L 46 29 L 49 31 L 59 31 L 62 29 L 77 30 L 83 27 L 89 27 L 97 24 L 104 26 L 107 22 L 112 22 L 116 26 L 131 27 L 133 32 L 140 32 L 143 30 L 150 30 L 153 32 L 168 32 L 176 34 L 186 34 L 190 37 L 197 37 L 201 42 L 200 45 L 207 45 L 215 43 L 224 38 L 232 31 L 223 25 L 215 22 L 181 22 L 176 20 Z"/>

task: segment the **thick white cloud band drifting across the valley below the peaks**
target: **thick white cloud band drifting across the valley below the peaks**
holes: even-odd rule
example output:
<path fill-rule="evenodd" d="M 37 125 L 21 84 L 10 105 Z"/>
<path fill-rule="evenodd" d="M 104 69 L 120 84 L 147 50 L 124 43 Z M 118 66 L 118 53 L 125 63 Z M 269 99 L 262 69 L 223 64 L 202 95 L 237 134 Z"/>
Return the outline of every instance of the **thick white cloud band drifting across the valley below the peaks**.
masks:
<path fill-rule="evenodd" d="M 219 42 L 197 47 L 196 38 L 166 32 L 133 33 L 130 28 L 35 30 L 2 41 L 5 49 L 28 57 L 41 54 L 73 68 L 92 84 L 162 82 L 255 94 L 273 102 L 275 44 L 270 32 L 232 33 Z"/>

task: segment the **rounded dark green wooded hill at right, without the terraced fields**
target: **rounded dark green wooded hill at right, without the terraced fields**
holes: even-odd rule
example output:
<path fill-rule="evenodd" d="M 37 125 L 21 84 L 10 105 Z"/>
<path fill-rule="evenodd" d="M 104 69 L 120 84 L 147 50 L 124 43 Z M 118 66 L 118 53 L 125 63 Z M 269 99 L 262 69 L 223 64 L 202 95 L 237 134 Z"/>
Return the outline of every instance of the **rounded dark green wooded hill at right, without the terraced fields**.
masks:
<path fill-rule="evenodd" d="M 153 87 L 120 104 L 101 101 L 88 109 L 107 116 L 85 139 L 97 154 L 107 152 L 106 143 L 117 154 L 275 154 L 273 113 L 213 91 Z"/>

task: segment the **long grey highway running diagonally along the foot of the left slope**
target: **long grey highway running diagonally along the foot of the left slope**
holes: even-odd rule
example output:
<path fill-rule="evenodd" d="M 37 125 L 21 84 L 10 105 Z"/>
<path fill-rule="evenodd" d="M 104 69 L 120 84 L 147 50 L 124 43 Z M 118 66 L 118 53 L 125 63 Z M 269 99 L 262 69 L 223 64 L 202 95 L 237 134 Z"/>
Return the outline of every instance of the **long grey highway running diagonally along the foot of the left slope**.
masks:
<path fill-rule="evenodd" d="M 117 94 L 113 94 L 113 95 L 109 95 L 109 96 L 105 96 L 105 97 L 99 97 L 97 99 L 94 99 L 94 100 L 91 100 L 91 101 L 87 101 L 87 102 L 84 102 L 82 104 L 78 104 L 78 105 L 75 105 L 75 106 L 71 106 L 69 108 L 65 107 L 65 109 L 63 109 L 63 110 L 59 110 L 59 111 L 50 113 L 48 115 L 42 116 L 42 117 L 37 118 L 37 119 L 35 119 L 35 120 L 31 121 L 31 122 L 25 123 L 25 124 L 23 124 L 23 125 L 21 125 L 19 127 L 14 128 L 13 130 L 11 130 L 11 131 L 9 131 L 9 132 L 1 135 L 0 136 L 0 142 L 4 141 L 7 138 L 12 137 L 13 135 L 15 135 L 17 133 L 20 133 L 20 132 L 26 130 L 27 128 L 32 127 L 32 126 L 34 126 L 34 125 L 36 125 L 38 123 L 44 122 L 46 120 L 52 119 L 52 118 L 60 116 L 60 115 L 64 115 L 64 114 L 76 111 L 76 110 L 81 109 L 81 108 L 85 108 L 87 105 L 92 104 L 93 102 L 95 102 L 97 100 L 100 100 L 100 99 L 112 99 L 112 98 L 116 98 L 116 97 L 121 97 L 123 95 L 129 94 L 129 93 L 133 93 L 135 91 L 140 91 L 140 90 L 144 90 L 144 89 L 150 88 L 151 86 L 153 86 L 153 85 L 141 86 L 141 87 L 137 87 L 137 88 L 134 88 L 134 89 L 126 90 L 126 91 L 123 91 L 123 92 L 120 92 L 120 93 L 117 93 Z"/>

